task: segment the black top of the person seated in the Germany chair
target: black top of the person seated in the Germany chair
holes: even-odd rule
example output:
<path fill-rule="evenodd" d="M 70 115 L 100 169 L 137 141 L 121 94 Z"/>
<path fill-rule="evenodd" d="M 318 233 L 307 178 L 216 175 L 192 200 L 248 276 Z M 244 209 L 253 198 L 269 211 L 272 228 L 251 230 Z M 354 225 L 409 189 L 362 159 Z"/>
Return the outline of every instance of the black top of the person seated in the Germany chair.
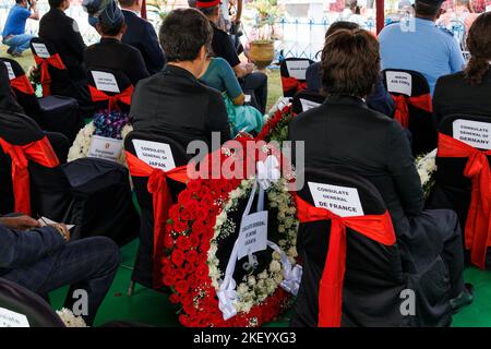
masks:
<path fill-rule="evenodd" d="M 491 69 L 479 85 L 468 84 L 464 72 L 438 80 L 433 94 L 434 121 L 439 124 L 445 116 L 452 113 L 491 118 Z"/>

